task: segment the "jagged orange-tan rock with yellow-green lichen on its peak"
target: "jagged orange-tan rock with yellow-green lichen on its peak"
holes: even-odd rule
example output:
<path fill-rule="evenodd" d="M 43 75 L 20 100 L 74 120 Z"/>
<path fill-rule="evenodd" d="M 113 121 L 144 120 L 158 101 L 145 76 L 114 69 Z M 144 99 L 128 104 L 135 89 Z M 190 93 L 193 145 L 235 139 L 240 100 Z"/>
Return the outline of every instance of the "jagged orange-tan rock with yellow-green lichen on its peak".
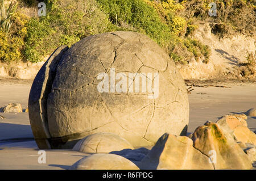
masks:
<path fill-rule="evenodd" d="M 216 123 L 196 128 L 193 146 L 214 158 L 215 169 L 251 169 L 251 162 L 231 134 L 224 133 Z M 214 155 L 213 155 L 214 154 Z"/>

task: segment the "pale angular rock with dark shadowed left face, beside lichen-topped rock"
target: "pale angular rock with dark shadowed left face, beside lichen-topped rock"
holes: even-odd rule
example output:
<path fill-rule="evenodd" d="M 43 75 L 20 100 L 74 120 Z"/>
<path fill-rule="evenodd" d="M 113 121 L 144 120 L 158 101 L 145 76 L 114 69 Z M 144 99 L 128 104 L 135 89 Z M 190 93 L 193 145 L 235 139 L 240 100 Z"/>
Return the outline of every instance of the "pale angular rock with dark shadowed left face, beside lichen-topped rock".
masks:
<path fill-rule="evenodd" d="M 150 153 L 138 164 L 140 169 L 214 169 L 209 158 L 193 148 L 193 141 L 186 136 L 165 133 Z"/>

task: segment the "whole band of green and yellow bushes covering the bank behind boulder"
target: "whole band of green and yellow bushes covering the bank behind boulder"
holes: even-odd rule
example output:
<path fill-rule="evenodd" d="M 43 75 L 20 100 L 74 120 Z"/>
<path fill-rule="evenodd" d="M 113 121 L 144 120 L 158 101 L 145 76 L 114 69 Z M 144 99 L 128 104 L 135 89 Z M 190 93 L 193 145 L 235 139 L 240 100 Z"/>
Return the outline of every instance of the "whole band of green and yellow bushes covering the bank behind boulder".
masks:
<path fill-rule="evenodd" d="M 210 22 L 219 37 L 255 32 L 255 1 L 217 0 L 217 16 L 209 16 L 210 0 L 0 0 L 0 61 L 38 62 L 60 45 L 108 31 L 137 31 L 155 40 L 176 63 L 191 57 L 209 61 L 210 49 L 192 38 L 198 21 Z"/>

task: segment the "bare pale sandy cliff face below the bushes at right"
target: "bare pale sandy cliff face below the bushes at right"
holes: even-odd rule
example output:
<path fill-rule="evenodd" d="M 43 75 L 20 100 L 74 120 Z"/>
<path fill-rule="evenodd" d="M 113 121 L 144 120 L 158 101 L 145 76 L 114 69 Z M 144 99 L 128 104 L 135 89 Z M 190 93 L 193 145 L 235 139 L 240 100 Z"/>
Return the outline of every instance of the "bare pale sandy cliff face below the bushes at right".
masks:
<path fill-rule="evenodd" d="M 191 58 L 186 65 L 177 65 L 184 79 L 209 79 L 209 78 L 255 78 L 247 67 L 247 52 L 255 52 L 255 36 L 237 35 L 220 39 L 210 31 L 209 23 L 199 24 L 193 38 L 208 45 L 211 49 L 209 63 L 205 64 L 204 57 L 198 61 Z M 255 66 L 251 67 L 254 69 Z"/>

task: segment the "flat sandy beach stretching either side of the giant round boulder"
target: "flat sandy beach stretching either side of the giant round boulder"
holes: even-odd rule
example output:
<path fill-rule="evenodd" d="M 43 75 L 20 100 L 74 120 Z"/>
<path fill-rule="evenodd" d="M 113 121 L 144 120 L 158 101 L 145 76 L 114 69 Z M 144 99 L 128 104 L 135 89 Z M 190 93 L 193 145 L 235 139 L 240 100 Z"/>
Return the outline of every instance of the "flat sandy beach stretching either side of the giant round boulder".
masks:
<path fill-rule="evenodd" d="M 28 106 L 32 81 L 0 80 L 0 107 L 18 102 Z M 224 87 L 192 87 L 189 98 L 188 134 L 207 120 L 242 113 L 256 107 L 255 83 L 229 83 Z M 0 113 L 0 169 L 68 169 L 85 153 L 72 150 L 46 150 L 46 163 L 38 163 L 38 147 L 30 128 L 28 113 Z M 256 117 L 246 120 L 251 131 L 256 131 Z"/>

